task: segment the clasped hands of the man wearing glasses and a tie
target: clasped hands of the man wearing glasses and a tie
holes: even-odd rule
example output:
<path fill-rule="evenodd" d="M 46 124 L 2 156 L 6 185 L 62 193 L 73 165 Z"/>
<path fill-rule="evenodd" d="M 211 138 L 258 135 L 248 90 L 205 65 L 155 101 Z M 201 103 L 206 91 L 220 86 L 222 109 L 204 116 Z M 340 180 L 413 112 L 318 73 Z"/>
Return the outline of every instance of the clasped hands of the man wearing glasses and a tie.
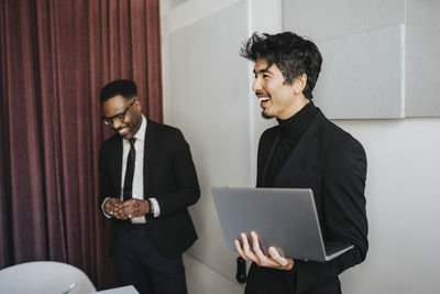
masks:
<path fill-rule="evenodd" d="M 110 198 L 105 204 L 106 213 L 118 219 L 129 219 L 133 217 L 142 217 L 150 211 L 147 200 L 128 199 L 121 202 L 119 198 Z"/>

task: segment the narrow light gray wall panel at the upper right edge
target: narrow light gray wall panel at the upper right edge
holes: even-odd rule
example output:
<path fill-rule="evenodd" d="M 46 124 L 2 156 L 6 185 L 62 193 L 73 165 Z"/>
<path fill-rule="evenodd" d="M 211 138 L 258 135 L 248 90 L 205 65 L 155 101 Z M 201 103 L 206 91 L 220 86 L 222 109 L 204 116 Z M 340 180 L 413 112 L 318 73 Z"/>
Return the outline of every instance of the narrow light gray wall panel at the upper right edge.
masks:
<path fill-rule="evenodd" d="M 407 117 L 440 117 L 440 1 L 407 1 Z"/>

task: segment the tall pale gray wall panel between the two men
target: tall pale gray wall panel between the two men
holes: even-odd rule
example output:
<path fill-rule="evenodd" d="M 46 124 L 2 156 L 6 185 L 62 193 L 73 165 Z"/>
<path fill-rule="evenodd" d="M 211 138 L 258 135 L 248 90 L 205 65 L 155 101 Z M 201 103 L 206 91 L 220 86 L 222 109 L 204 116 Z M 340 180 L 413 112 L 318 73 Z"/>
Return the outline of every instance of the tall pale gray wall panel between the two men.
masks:
<path fill-rule="evenodd" d="M 235 281 L 237 253 L 224 246 L 211 186 L 250 185 L 248 1 L 216 11 L 169 34 L 168 123 L 187 138 L 201 188 L 190 209 L 198 241 L 191 257 Z M 253 160 L 253 159 L 252 159 Z"/>

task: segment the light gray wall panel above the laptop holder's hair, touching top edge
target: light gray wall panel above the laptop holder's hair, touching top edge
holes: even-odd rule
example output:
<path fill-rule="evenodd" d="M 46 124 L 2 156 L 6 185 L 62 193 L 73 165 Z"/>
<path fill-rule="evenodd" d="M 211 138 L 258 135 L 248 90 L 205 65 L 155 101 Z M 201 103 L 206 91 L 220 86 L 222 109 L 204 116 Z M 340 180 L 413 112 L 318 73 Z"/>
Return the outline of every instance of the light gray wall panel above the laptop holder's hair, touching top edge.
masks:
<path fill-rule="evenodd" d="M 405 22 L 405 0 L 284 0 L 284 31 L 323 41 Z"/>

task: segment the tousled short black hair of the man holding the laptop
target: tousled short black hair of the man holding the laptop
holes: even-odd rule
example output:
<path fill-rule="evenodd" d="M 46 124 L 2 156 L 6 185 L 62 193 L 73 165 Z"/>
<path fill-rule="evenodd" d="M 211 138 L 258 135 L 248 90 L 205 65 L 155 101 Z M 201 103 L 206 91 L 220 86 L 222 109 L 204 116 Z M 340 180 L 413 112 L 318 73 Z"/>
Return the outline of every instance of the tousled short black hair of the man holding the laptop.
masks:
<path fill-rule="evenodd" d="M 240 50 L 240 55 L 252 62 L 263 58 L 268 66 L 276 64 L 285 76 L 285 83 L 292 85 L 296 77 L 307 75 L 302 91 L 306 98 L 312 99 L 311 91 L 321 72 L 322 56 L 317 45 L 293 33 L 279 34 L 254 33 Z"/>

